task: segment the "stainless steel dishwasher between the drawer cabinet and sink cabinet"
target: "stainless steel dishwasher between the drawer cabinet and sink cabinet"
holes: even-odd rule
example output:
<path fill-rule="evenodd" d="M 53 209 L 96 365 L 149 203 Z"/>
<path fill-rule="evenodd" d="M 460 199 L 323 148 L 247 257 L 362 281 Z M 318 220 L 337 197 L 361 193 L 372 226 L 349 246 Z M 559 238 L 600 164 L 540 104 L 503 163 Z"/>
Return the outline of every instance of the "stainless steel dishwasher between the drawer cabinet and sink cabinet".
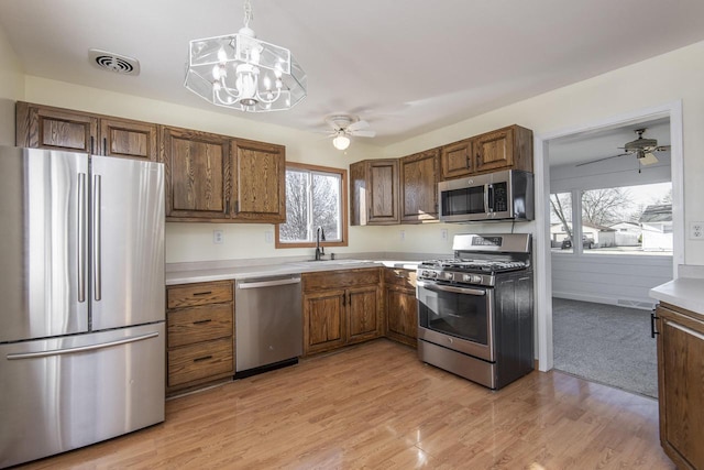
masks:
<path fill-rule="evenodd" d="M 299 274 L 235 282 L 235 378 L 298 362 L 301 309 Z"/>

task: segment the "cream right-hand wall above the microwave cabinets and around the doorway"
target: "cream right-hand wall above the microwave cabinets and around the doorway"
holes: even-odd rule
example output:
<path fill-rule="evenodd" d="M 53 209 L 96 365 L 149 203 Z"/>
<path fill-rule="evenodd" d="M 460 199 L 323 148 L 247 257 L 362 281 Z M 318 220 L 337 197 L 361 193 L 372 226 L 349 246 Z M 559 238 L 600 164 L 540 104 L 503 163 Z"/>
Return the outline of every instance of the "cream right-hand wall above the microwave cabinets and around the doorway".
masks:
<path fill-rule="evenodd" d="M 704 220 L 704 42 L 570 85 L 384 149 L 400 156 L 517 123 L 535 134 L 683 103 L 684 221 Z M 542 162 L 536 162 L 541 167 Z M 535 230 L 535 223 L 521 230 Z M 686 264 L 704 264 L 704 243 L 685 240 Z"/>

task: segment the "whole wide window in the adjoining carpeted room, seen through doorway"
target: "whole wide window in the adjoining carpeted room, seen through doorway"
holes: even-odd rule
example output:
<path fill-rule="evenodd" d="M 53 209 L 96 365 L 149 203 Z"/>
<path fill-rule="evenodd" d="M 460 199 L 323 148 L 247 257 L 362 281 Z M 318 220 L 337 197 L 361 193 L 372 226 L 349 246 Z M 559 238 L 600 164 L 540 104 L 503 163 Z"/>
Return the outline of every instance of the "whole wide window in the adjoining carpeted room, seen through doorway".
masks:
<path fill-rule="evenodd" d="M 563 253 L 671 255 L 672 184 L 551 194 L 550 242 Z"/>

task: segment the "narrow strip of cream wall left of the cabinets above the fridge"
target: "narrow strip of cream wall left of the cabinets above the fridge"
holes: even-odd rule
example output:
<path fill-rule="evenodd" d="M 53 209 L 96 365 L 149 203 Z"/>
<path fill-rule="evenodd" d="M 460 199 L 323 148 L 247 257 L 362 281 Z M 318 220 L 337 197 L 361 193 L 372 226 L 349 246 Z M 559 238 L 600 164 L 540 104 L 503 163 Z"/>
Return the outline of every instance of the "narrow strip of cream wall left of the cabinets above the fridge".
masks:
<path fill-rule="evenodd" d="M 14 145 L 14 101 L 24 96 L 24 73 L 0 29 L 0 145 Z"/>

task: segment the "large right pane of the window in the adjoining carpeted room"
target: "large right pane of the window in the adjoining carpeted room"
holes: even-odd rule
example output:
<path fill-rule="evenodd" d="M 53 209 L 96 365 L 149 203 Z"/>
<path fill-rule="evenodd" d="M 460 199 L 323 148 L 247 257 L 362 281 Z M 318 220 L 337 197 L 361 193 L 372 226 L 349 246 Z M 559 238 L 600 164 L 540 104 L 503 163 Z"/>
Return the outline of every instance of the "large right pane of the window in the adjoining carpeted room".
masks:
<path fill-rule="evenodd" d="M 582 193 L 585 253 L 672 254 L 672 184 Z"/>

